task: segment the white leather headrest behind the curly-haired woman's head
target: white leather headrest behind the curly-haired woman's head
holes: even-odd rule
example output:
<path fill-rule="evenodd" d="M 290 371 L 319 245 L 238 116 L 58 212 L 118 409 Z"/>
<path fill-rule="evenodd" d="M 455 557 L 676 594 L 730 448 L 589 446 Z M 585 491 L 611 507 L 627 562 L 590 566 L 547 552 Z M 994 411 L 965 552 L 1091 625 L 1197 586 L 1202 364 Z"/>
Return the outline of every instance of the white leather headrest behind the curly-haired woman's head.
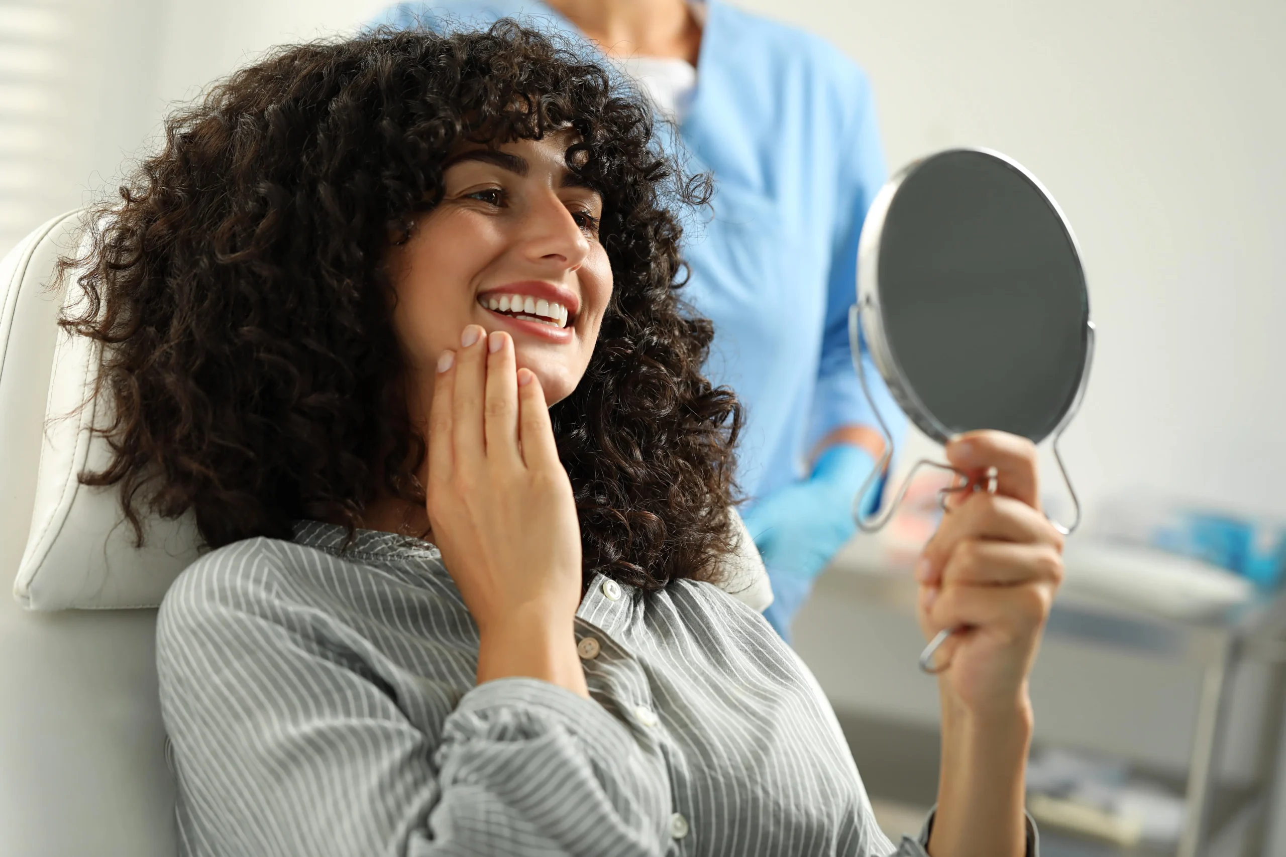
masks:
<path fill-rule="evenodd" d="M 90 428 L 105 424 L 109 414 L 102 401 L 81 407 L 96 378 L 98 344 L 57 326 L 64 296 L 78 301 L 81 290 L 68 288 L 73 283 L 58 290 L 48 285 L 59 256 L 78 243 L 81 221 L 82 212 L 55 217 L 0 262 L 4 535 L 17 536 L 21 522 L 31 520 L 14 596 L 31 610 L 157 606 L 197 559 L 201 542 L 192 515 L 147 517 L 143 547 L 136 549 L 116 488 L 80 483 L 81 472 L 108 463 L 107 442 Z M 39 475 L 32 466 L 37 451 Z M 772 603 L 768 574 L 739 518 L 737 527 L 738 547 L 728 558 L 723 586 L 763 610 Z"/>

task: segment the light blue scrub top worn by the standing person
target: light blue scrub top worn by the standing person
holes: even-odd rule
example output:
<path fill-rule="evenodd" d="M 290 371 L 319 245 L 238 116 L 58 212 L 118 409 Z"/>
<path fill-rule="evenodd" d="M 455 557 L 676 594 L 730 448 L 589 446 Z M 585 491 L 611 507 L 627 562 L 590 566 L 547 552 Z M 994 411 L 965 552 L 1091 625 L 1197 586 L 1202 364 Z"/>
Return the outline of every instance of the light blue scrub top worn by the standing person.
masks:
<path fill-rule="evenodd" d="M 715 325 L 707 375 L 746 409 L 737 475 L 755 499 L 799 479 L 837 425 L 878 428 L 853 370 L 847 312 L 862 221 L 887 173 L 862 69 L 817 36 L 706 5 L 679 136 L 689 168 L 714 173 L 715 195 L 712 215 L 684 233 L 683 298 Z M 584 41 L 532 0 L 403 3 L 377 23 L 437 30 L 504 17 Z M 900 439 L 905 418 L 863 361 Z"/>

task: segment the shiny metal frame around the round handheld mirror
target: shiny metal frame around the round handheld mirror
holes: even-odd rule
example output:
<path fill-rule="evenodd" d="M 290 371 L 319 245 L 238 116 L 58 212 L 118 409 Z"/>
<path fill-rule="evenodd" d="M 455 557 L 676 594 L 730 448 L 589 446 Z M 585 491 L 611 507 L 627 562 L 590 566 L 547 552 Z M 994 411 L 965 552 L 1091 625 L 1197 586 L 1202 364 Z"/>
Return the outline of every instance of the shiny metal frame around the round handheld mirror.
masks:
<path fill-rule="evenodd" d="M 880 461 L 876 464 L 876 468 L 867 477 L 865 482 L 862 486 L 862 490 L 858 491 L 858 495 L 854 499 L 853 518 L 858 528 L 860 528 L 863 532 L 867 533 L 878 532 L 892 518 L 892 514 L 896 511 L 898 506 L 901 504 L 903 497 L 907 493 L 907 488 L 910 486 L 912 479 L 921 468 L 932 466 L 948 470 L 950 473 L 957 473 L 957 470 L 950 465 L 941 464 L 939 461 L 932 461 L 930 459 L 921 459 L 912 466 L 910 472 L 908 472 L 901 486 L 898 488 L 896 492 L 894 492 L 892 500 L 883 502 L 882 509 L 877 509 L 874 514 L 872 514 L 869 518 L 862 513 L 863 499 L 876 484 L 876 482 L 883 477 L 885 472 L 889 468 L 890 461 L 892 461 L 892 456 L 895 452 L 892 433 L 889 430 L 887 423 L 885 423 L 883 416 L 880 414 L 880 409 L 876 405 L 874 398 L 871 396 L 871 389 L 867 383 L 865 369 L 862 362 L 862 349 L 859 347 L 863 339 L 865 340 L 867 344 L 867 352 L 874 361 L 876 369 L 883 378 L 890 394 L 894 397 L 894 401 L 898 402 L 901 410 L 907 414 L 907 416 L 922 432 L 925 432 L 925 434 L 937 441 L 939 443 L 946 443 L 952 436 L 952 433 L 941 423 L 939 423 L 936 418 L 934 418 L 934 415 L 928 411 L 928 409 L 925 407 L 925 405 L 916 396 L 914 389 L 908 382 L 901 367 L 898 365 L 898 361 L 892 356 L 892 351 L 889 347 L 887 338 L 885 337 L 882 315 L 880 311 L 878 267 L 880 267 L 880 243 L 883 236 L 885 220 L 889 216 L 889 209 L 892 206 L 892 200 L 896 197 L 898 190 L 912 175 L 916 173 L 916 171 L 927 164 L 930 161 L 959 152 L 983 154 L 989 158 L 997 159 L 1008 166 L 1010 168 L 1015 170 L 1024 179 L 1031 182 L 1031 185 L 1044 197 L 1046 202 L 1049 204 L 1049 208 L 1053 211 L 1053 213 L 1058 217 L 1064 233 L 1066 234 L 1067 240 L 1071 244 L 1073 253 L 1076 256 L 1078 267 L 1080 267 L 1080 280 L 1085 292 L 1085 302 L 1084 302 L 1085 361 L 1080 370 L 1080 382 L 1076 385 L 1075 393 L 1069 400 L 1066 410 L 1062 414 L 1062 418 L 1058 420 L 1055 429 L 1047 436 L 1053 438 L 1052 448 L 1055 460 L 1058 463 L 1058 469 L 1062 473 L 1064 483 L 1067 486 L 1067 493 L 1071 496 L 1071 502 L 1075 509 L 1075 517 L 1070 524 L 1064 526 L 1057 522 L 1052 523 L 1065 536 L 1071 535 L 1071 532 L 1074 532 L 1076 527 L 1080 524 L 1080 517 L 1082 517 L 1080 499 L 1076 496 L 1076 491 L 1071 484 L 1071 478 L 1067 475 L 1067 466 L 1066 464 L 1064 464 L 1062 454 L 1058 450 L 1058 441 L 1062 438 L 1062 433 L 1066 430 L 1073 418 L 1080 410 L 1080 403 L 1085 394 L 1085 385 L 1089 382 L 1089 370 L 1094 358 L 1094 322 L 1089 317 L 1089 288 L 1085 279 L 1084 265 L 1082 263 L 1080 245 L 1076 242 L 1076 235 L 1071 229 L 1071 224 L 1067 222 L 1067 217 L 1066 215 L 1064 215 L 1062 208 L 1058 207 L 1058 203 L 1055 200 L 1053 195 L 1046 189 L 1043 184 L 1040 184 L 1040 181 L 1034 175 L 1031 175 L 1030 171 L 1028 171 L 1025 167 L 1022 167 L 1022 164 L 1017 163 L 1008 155 L 1004 155 L 993 149 L 967 148 L 967 146 L 944 149 L 941 152 L 936 152 L 923 158 L 918 158 L 907 164 L 905 167 L 903 167 L 896 175 L 894 175 L 885 184 L 883 188 L 880 189 L 880 193 L 871 203 L 871 208 L 867 212 L 865 222 L 863 224 L 862 227 L 862 239 L 858 244 L 858 283 L 856 283 L 858 301 L 849 310 L 849 344 L 853 351 L 853 366 L 858 373 L 859 382 L 862 383 L 862 392 L 865 396 L 867 402 L 871 405 L 871 410 L 874 412 L 876 420 L 880 423 L 880 430 L 883 434 L 883 441 L 885 441 L 885 450 L 883 454 L 880 456 Z M 1040 439 L 1043 441 L 1044 438 Z"/>

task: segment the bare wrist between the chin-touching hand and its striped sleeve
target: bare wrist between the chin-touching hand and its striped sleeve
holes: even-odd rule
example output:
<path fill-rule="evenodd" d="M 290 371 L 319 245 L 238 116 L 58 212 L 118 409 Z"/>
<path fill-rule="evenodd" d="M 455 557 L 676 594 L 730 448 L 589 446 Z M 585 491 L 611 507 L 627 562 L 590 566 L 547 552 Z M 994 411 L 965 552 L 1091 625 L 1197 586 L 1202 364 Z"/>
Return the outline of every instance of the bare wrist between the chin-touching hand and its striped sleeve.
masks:
<path fill-rule="evenodd" d="M 543 612 L 481 630 L 477 682 L 514 676 L 540 678 L 589 698 L 571 623 L 550 621 Z"/>

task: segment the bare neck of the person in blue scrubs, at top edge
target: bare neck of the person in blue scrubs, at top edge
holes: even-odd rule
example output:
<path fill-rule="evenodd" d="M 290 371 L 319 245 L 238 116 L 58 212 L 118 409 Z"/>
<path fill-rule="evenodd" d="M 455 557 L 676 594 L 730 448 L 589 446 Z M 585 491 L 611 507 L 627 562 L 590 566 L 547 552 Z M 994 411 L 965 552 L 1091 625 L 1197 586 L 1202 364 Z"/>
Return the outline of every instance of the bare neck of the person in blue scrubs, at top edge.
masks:
<path fill-rule="evenodd" d="M 670 57 L 697 64 L 701 26 L 685 0 L 545 0 L 608 57 Z"/>

